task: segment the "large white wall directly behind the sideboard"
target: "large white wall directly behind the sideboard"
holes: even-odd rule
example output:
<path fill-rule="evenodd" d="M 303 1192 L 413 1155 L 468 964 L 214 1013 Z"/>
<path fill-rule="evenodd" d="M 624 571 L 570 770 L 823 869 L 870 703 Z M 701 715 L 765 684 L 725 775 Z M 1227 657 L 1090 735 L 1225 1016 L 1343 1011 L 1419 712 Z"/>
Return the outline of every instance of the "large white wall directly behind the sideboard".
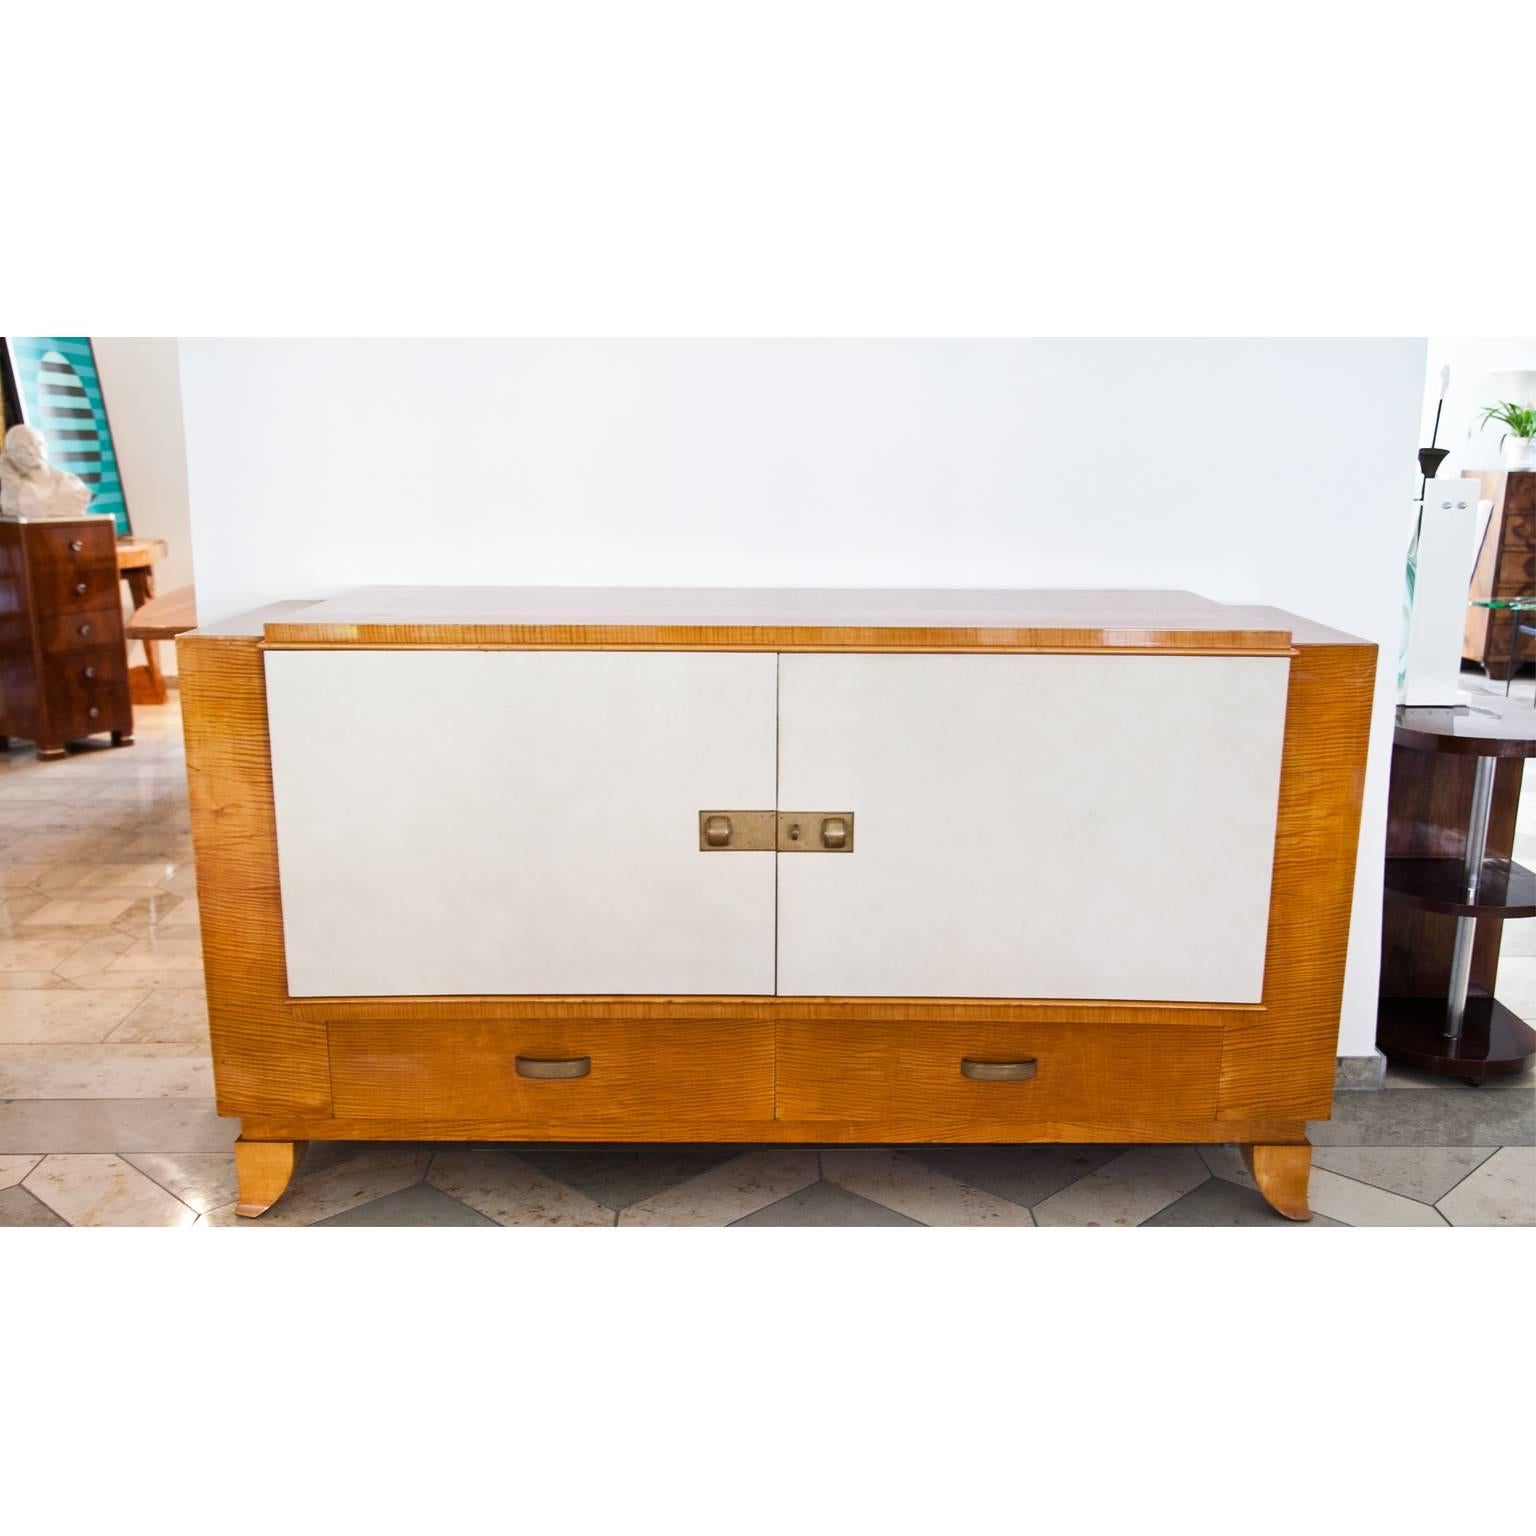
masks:
<path fill-rule="evenodd" d="M 1424 343 L 186 341 L 200 614 L 370 582 L 1180 587 L 1376 641 Z"/>

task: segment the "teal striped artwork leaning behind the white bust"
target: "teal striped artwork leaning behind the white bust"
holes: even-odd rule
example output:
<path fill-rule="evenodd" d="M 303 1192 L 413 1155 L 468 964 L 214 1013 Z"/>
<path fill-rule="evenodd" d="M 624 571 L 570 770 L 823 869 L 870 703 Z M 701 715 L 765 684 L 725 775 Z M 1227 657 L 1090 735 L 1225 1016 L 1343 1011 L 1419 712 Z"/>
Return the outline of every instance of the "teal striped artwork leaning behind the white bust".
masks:
<path fill-rule="evenodd" d="M 112 427 L 89 336 L 6 336 L 22 419 L 48 439 L 48 458 L 91 487 L 91 511 L 132 533 Z"/>

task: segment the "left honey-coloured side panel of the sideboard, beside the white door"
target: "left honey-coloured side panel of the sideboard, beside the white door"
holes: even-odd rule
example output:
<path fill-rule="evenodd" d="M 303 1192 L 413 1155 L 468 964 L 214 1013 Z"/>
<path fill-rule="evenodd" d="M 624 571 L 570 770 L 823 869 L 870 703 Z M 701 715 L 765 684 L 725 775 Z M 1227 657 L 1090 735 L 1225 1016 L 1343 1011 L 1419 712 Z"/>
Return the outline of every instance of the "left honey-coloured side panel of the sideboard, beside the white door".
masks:
<path fill-rule="evenodd" d="M 218 1109 L 330 1114 L 326 1026 L 287 1000 L 260 637 L 186 636 L 177 662 Z"/>

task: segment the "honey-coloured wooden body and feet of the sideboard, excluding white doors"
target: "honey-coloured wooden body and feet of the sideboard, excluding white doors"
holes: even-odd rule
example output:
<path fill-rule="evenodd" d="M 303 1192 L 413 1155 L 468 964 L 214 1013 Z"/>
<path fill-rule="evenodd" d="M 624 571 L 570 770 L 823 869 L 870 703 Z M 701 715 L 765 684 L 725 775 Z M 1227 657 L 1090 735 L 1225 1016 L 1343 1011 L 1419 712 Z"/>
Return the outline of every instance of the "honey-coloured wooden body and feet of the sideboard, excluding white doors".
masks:
<path fill-rule="evenodd" d="M 1137 648 L 1177 650 L 1169 636 L 1195 633 L 1198 647 L 1258 641 L 1260 653 L 1283 647 L 1292 656 L 1260 1005 L 963 997 L 292 1000 L 283 963 L 263 648 L 399 644 L 389 636 L 401 633 L 415 636 L 404 644 L 422 644 L 424 630 L 412 621 L 402 631 L 398 610 L 393 617 L 379 613 L 378 625 L 367 614 L 343 624 L 341 608 L 284 604 L 184 634 L 178 650 L 218 1106 L 243 1117 L 244 1144 L 273 1147 L 270 1155 L 240 1154 L 243 1198 L 246 1167 L 257 1170 L 252 1187 L 260 1184 L 260 1198 L 252 1204 L 260 1204 L 270 1193 L 272 1169 L 290 1166 L 290 1144 L 304 1138 L 1238 1141 L 1263 1149 L 1255 1170 L 1276 1207 L 1304 1212 L 1304 1121 L 1326 1118 L 1332 1100 L 1375 647 L 1267 608 L 1241 610 L 1236 625 L 1218 617 L 1232 610 L 1204 599 L 1184 604 L 1184 596 L 1089 594 L 1077 613 L 1124 598 L 1124 611 L 1141 625 L 1127 642 Z M 614 598 L 610 616 L 630 601 L 634 594 Z M 773 594 L 753 601 L 771 602 Z M 1107 610 L 1095 611 L 1104 617 Z M 535 644 L 525 636 L 487 641 L 484 614 L 468 628 L 458 622 L 450 628 L 456 639 L 429 644 Z M 559 625 L 533 628 L 544 645 L 559 644 L 551 634 L 565 633 Z M 885 627 L 843 628 L 806 647 L 865 648 L 869 628 Z M 972 628 L 982 648 L 998 645 L 995 631 Z M 719 648 L 723 633 L 746 648 L 783 645 L 783 627 L 746 630 L 746 639 L 736 624 L 688 630 L 679 644 Z M 1029 630 L 1028 644 L 1058 648 L 1068 631 L 1080 636 L 1084 625 L 1049 634 Z M 568 644 L 593 644 L 590 625 L 570 633 Z M 654 644 L 664 644 L 657 633 Z M 902 633 L 912 639 L 909 628 Z M 938 624 L 931 647 L 925 641 L 897 648 L 957 647 L 957 633 Z M 1017 645 L 1021 630 L 1009 634 Z M 1101 624 L 1097 648 L 1106 648 L 1111 634 L 1130 631 Z M 1018 1052 L 1040 1061 L 1032 1081 L 977 1083 L 960 1075 L 962 1055 L 994 1060 Z M 513 1068 L 518 1054 L 591 1055 L 593 1071 L 579 1080 L 528 1081 Z"/>

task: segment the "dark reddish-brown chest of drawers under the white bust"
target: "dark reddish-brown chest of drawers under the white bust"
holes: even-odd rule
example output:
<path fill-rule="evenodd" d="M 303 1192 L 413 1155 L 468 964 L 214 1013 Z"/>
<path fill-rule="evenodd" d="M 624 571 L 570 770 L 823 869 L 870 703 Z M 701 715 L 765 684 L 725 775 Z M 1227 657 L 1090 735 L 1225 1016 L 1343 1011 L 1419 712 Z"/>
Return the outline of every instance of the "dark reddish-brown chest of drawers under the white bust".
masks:
<path fill-rule="evenodd" d="M 0 521 L 0 739 L 134 739 L 127 651 L 111 518 Z"/>

